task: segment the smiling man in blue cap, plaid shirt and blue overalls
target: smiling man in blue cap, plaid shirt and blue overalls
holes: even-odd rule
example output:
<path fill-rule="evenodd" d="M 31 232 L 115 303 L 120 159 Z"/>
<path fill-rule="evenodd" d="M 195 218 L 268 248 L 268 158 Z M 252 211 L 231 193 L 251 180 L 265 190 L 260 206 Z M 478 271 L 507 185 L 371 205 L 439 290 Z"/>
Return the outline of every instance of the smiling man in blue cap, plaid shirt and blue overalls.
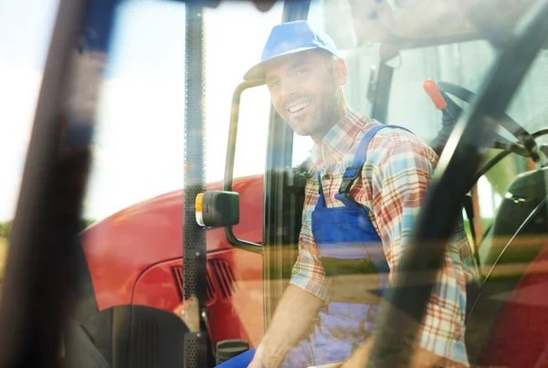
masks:
<path fill-rule="evenodd" d="M 244 77 L 265 79 L 279 115 L 315 142 L 314 175 L 305 190 L 300 255 L 269 331 L 256 351 L 221 366 L 343 362 L 350 368 L 367 362 L 375 295 L 394 278 L 437 155 L 411 132 L 350 110 L 342 90 L 346 78 L 332 39 L 306 21 L 275 26 L 261 62 Z M 470 254 L 459 222 L 427 305 L 412 366 L 469 365 L 464 313 L 465 285 L 475 277 Z M 343 281 L 356 273 L 376 275 L 375 287 L 357 297 L 353 294 L 361 283 L 349 292 Z"/>

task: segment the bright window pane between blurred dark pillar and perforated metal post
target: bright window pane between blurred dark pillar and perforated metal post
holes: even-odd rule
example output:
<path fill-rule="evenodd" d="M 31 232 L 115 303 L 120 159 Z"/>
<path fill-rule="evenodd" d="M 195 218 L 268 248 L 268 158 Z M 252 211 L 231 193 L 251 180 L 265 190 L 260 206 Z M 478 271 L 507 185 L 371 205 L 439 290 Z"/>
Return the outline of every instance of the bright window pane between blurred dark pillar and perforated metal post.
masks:
<path fill-rule="evenodd" d="M 100 98 L 87 218 L 183 187 L 184 19 L 183 3 L 122 2 L 104 66 L 89 53 Z"/>

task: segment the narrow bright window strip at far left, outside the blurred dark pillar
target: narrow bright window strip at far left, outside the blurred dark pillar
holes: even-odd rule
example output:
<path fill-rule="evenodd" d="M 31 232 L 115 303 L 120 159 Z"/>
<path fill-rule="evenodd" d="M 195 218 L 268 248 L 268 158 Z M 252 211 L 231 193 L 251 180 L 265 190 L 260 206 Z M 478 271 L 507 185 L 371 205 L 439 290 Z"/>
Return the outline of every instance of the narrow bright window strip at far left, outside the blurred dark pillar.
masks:
<path fill-rule="evenodd" d="M 0 295 L 7 237 L 57 10 L 58 0 L 0 1 Z"/>

